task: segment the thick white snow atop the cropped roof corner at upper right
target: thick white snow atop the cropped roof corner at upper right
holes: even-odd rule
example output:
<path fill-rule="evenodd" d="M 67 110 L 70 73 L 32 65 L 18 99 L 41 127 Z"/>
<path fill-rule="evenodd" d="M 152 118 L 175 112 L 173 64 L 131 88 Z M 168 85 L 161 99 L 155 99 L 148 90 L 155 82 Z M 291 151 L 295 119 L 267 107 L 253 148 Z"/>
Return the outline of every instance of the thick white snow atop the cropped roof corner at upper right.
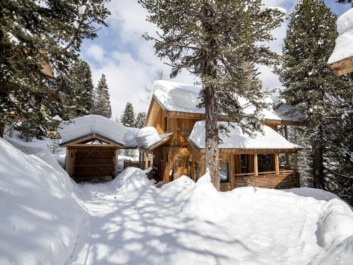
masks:
<path fill-rule="evenodd" d="M 353 57 L 353 8 L 340 16 L 336 24 L 339 36 L 327 62 L 329 65 Z"/>

